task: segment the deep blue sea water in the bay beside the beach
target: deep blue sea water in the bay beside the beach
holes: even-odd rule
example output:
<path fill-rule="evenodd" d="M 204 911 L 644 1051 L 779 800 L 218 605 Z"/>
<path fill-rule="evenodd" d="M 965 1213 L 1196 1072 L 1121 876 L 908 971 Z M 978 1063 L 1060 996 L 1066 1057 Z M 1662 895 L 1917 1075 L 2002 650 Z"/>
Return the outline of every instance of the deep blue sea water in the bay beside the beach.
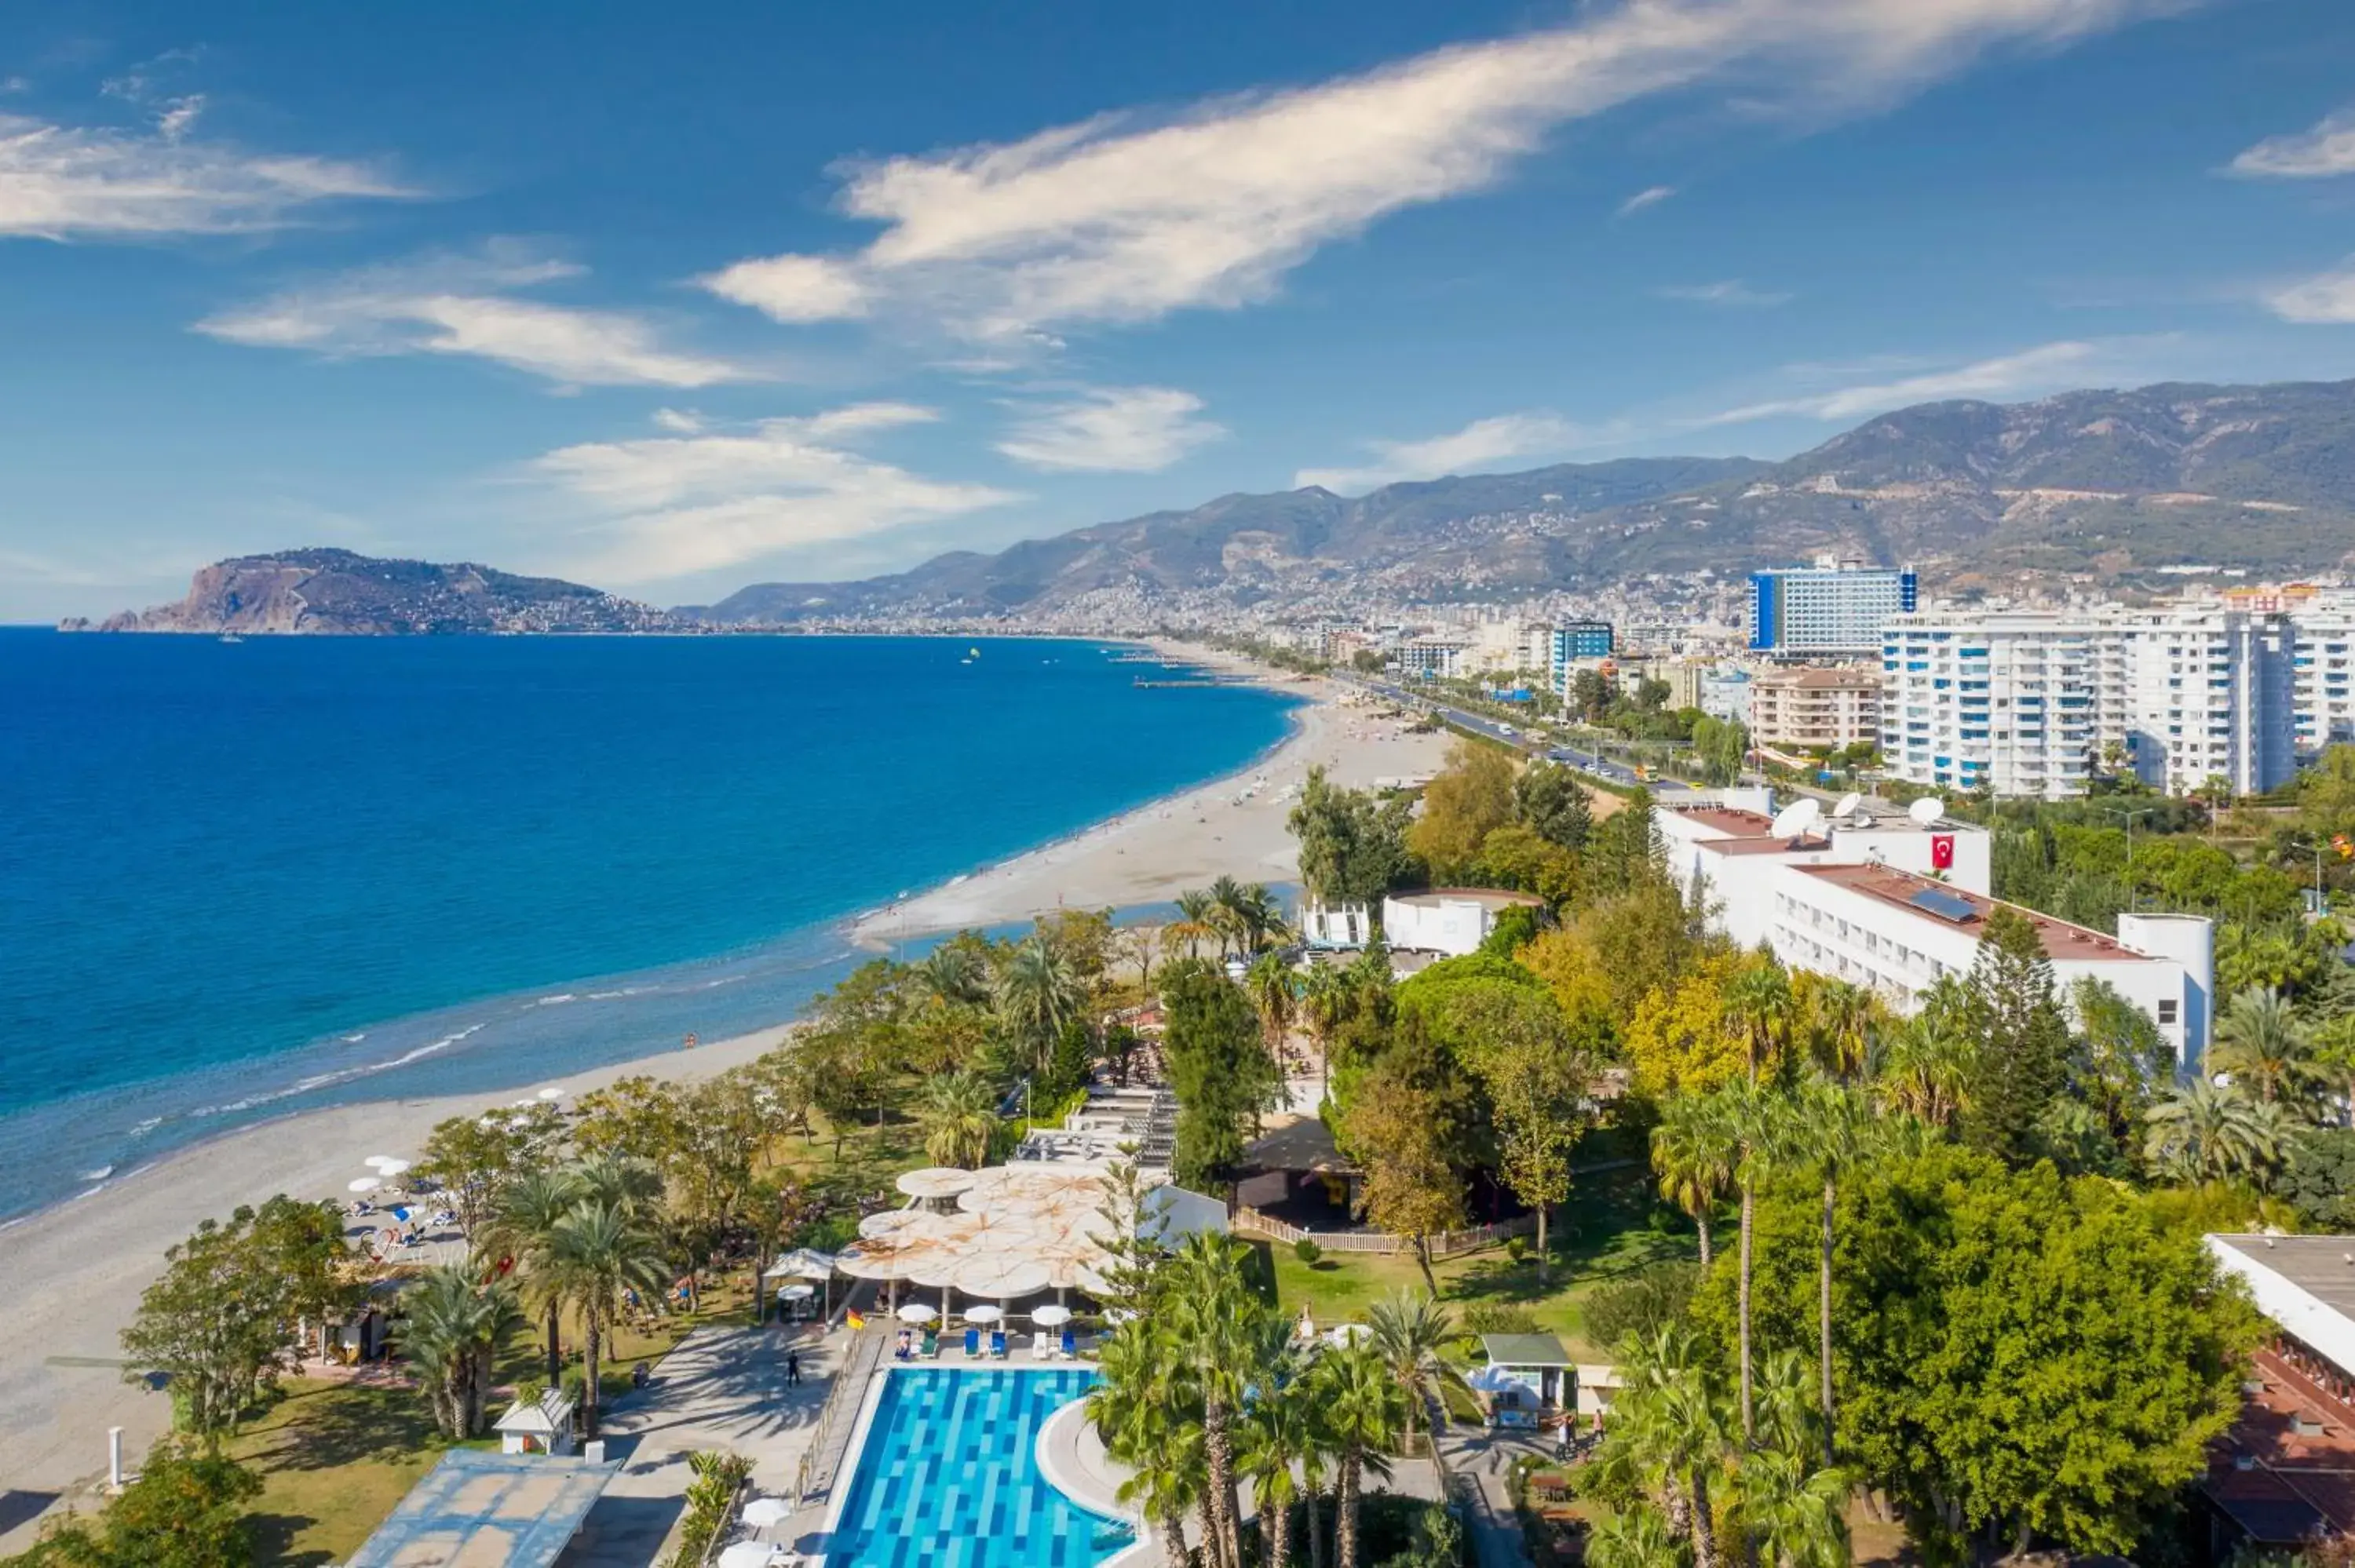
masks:
<path fill-rule="evenodd" d="M 777 1022 L 855 961 L 843 916 L 1286 732 L 1283 697 L 1135 676 L 1093 643 L 0 631 L 0 1217 L 264 1116 Z"/>

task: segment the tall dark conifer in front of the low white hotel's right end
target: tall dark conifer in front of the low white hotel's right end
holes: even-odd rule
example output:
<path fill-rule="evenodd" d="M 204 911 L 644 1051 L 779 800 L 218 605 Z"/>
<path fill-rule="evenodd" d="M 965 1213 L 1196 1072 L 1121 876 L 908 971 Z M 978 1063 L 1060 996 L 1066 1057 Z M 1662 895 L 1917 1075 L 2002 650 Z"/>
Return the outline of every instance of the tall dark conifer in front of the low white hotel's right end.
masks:
<path fill-rule="evenodd" d="M 1971 1052 L 1964 1099 L 1971 1147 L 2023 1163 L 2035 1158 L 2035 1130 L 2061 1092 L 2068 1064 L 2068 1019 L 2054 994 L 2054 965 L 2037 925 L 1997 904 L 1988 911 L 1971 961 Z"/>

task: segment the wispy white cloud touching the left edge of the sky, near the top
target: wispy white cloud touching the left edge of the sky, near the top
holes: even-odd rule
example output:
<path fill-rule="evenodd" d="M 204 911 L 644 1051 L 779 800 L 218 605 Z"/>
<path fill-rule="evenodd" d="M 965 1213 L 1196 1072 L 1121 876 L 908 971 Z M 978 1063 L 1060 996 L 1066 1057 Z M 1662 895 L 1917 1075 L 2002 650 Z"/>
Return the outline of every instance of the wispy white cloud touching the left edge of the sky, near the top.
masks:
<path fill-rule="evenodd" d="M 0 113 L 0 238 L 252 233 L 313 202 L 417 195 L 358 162 L 193 141 L 200 108 L 174 99 L 153 134 Z"/>

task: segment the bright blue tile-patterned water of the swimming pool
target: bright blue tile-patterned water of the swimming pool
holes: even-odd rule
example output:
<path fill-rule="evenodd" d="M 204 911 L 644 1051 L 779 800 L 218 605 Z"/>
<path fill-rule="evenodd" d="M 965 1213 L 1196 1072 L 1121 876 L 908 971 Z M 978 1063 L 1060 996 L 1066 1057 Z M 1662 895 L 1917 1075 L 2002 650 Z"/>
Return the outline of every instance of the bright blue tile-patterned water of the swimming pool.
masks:
<path fill-rule="evenodd" d="M 921 1368 L 883 1382 L 829 1568 L 1090 1568 L 1135 1542 L 1043 1474 L 1039 1427 L 1095 1373 Z"/>

